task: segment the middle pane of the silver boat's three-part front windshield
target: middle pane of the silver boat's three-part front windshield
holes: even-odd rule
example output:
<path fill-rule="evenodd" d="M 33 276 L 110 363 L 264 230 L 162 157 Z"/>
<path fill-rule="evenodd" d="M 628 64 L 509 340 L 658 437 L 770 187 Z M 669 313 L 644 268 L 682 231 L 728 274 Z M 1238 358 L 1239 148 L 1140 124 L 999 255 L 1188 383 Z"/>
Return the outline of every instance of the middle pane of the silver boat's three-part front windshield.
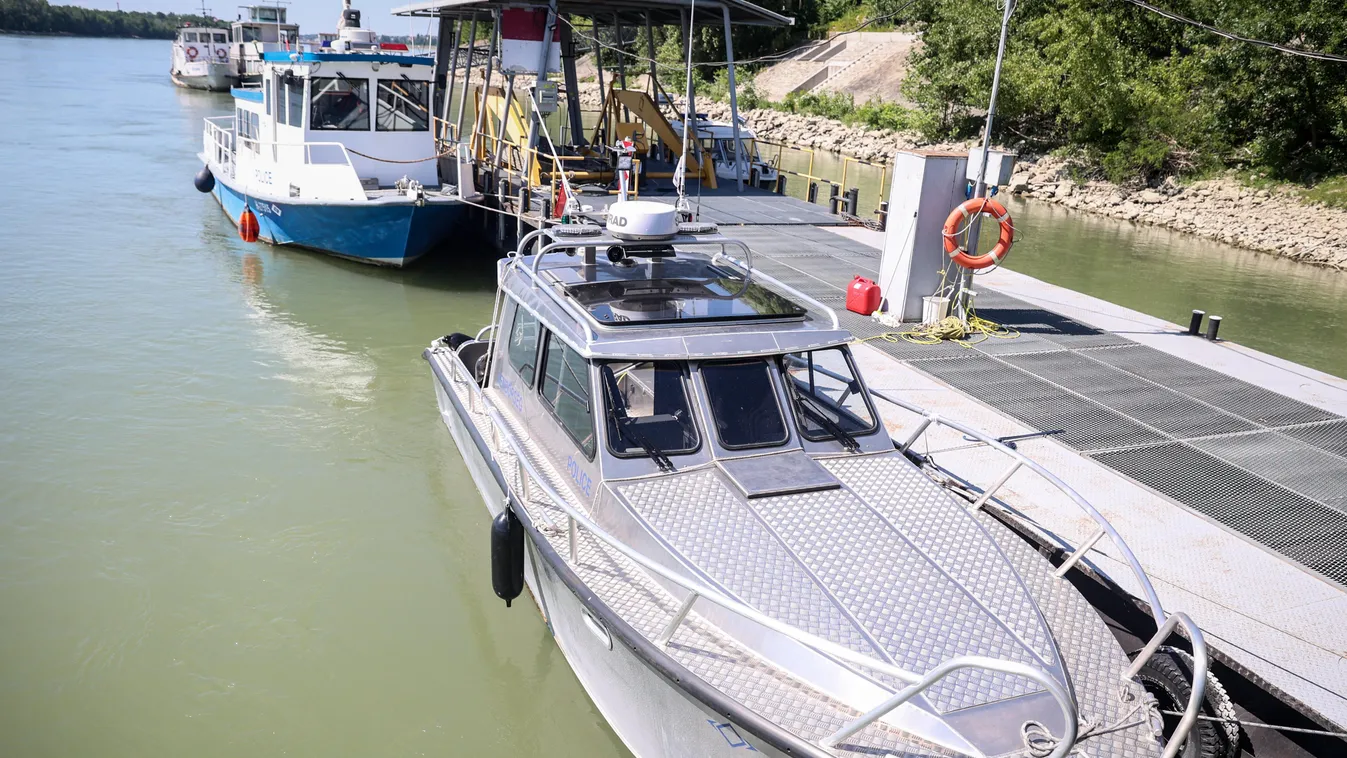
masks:
<path fill-rule="evenodd" d="M 721 444 L 765 447 L 789 438 L 766 361 L 702 364 L 702 378 Z"/>

